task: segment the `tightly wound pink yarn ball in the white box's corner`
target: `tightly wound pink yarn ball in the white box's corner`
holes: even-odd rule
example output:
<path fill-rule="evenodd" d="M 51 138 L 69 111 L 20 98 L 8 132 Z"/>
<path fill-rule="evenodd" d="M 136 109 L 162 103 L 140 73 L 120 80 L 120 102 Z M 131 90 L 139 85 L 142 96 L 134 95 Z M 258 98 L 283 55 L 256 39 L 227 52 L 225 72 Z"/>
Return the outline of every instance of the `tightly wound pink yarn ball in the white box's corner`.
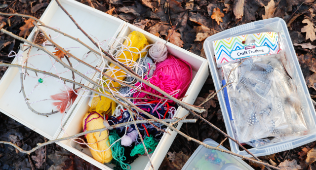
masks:
<path fill-rule="evenodd" d="M 175 58 L 174 56 L 168 54 L 168 57 L 165 61 L 157 64 L 153 76 L 158 75 L 160 71 L 165 75 L 170 75 L 171 78 L 175 79 L 179 83 L 182 82 L 179 87 L 181 90 L 179 97 L 184 97 L 192 79 L 191 66 L 186 61 Z"/>

